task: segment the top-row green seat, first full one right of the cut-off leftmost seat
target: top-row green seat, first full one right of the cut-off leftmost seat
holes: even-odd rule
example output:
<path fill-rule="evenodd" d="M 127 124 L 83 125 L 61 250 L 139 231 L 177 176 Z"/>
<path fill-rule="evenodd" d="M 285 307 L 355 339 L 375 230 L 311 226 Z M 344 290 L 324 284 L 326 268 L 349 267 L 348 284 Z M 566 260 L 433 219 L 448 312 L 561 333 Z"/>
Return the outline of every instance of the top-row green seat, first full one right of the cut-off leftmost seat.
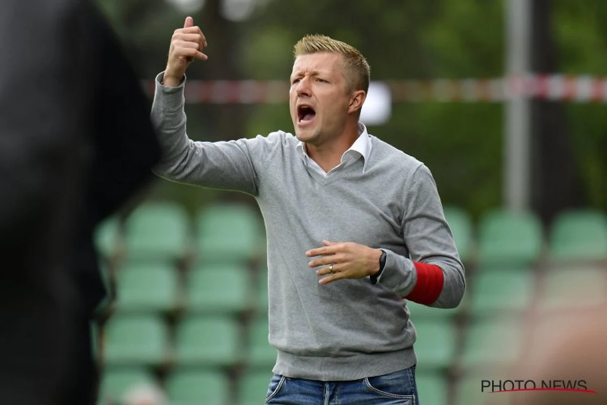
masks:
<path fill-rule="evenodd" d="M 188 245 L 189 219 L 177 203 L 148 202 L 126 219 L 127 257 L 137 260 L 175 259 Z"/>

